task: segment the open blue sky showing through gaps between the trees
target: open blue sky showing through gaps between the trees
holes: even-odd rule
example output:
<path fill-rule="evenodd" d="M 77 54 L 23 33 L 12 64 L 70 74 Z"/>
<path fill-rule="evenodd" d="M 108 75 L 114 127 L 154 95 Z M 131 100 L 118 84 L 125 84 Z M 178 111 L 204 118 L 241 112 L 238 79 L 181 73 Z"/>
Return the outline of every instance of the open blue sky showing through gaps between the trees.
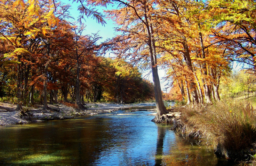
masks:
<path fill-rule="evenodd" d="M 70 4 L 72 6 L 72 9 L 70 10 L 70 14 L 72 17 L 75 18 L 74 21 L 76 21 L 77 17 L 79 16 L 79 11 L 77 10 L 77 7 L 79 4 L 72 3 L 72 1 L 68 1 L 68 0 L 61 0 L 61 2 L 65 3 L 65 4 Z M 97 7 L 97 8 L 98 8 L 99 12 L 104 11 L 104 8 L 100 8 L 100 7 Z M 100 42 L 103 42 L 108 38 L 114 37 L 115 36 L 115 27 L 116 27 L 115 23 L 112 20 L 108 20 L 108 19 L 105 19 L 105 21 L 107 23 L 105 24 L 105 26 L 102 26 L 101 24 L 98 24 L 95 19 L 85 18 L 84 24 L 86 25 L 86 28 L 85 28 L 84 34 L 92 34 L 92 33 L 98 32 L 99 36 L 102 37 Z M 106 56 L 108 57 L 109 55 L 107 54 Z M 110 56 L 112 57 L 113 55 L 110 55 Z M 148 71 L 145 71 L 142 73 L 144 76 L 144 75 L 148 74 Z M 159 75 L 160 82 L 161 82 L 161 89 L 164 90 L 164 85 L 166 83 L 161 81 L 161 78 L 164 77 L 164 71 L 160 70 L 159 67 L 158 67 L 158 75 Z M 150 76 L 147 77 L 147 79 L 149 79 L 151 82 L 153 82 L 152 74 L 150 74 Z M 170 89 L 168 89 L 167 92 L 169 92 L 169 90 Z"/>

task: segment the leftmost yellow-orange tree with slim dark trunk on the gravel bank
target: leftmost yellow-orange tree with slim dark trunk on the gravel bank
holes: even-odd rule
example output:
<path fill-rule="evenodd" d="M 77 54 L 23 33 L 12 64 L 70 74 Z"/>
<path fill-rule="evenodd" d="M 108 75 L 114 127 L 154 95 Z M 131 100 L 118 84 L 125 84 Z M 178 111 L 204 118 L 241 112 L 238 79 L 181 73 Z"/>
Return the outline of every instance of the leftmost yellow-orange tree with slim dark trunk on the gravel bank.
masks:
<path fill-rule="evenodd" d="M 34 1 L 33 1 L 34 2 Z M 29 72 L 29 57 L 31 57 L 35 40 L 44 35 L 47 24 L 55 24 L 53 6 L 49 2 L 34 2 L 28 4 L 23 1 L 5 1 L 0 5 L 1 22 L 0 35 L 2 40 L 12 45 L 10 52 L 6 53 L 9 60 L 17 64 L 17 108 L 22 109 L 22 82 L 23 71 Z M 39 7 L 41 5 L 41 9 Z M 27 94 L 27 79 L 25 80 L 25 93 Z"/>

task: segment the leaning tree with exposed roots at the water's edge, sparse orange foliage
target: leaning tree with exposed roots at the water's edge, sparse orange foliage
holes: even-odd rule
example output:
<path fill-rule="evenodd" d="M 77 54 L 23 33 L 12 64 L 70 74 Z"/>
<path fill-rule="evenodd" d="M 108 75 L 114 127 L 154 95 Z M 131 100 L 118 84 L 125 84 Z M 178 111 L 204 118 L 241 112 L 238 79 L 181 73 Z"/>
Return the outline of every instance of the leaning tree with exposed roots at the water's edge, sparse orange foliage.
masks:
<path fill-rule="evenodd" d="M 109 10 L 106 12 L 108 13 L 109 17 L 120 26 L 117 31 L 124 34 L 119 35 L 114 39 L 116 44 L 115 49 L 119 49 L 118 55 L 130 59 L 134 63 L 140 61 L 141 59 L 144 59 L 146 62 L 150 61 L 157 108 L 156 117 L 152 121 L 161 122 L 162 120 L 160 117 L 163 114 L 168 113 L 168 111 L 164 107 L 160 80 L 157 72 L 155 28 L 152 22 L 154 11 L 153 1 L 90 1 L 90 4 L 100 4 L 102 6 L 112 3 L 117 3 L 119 9 Z M 129 17 L 124 17 L 127 15 Z M 122 44 L 125 44 L 126 48 L 121 48 Z M 145 54 L 145 51 L 148 51 L 148 55 Z M 133 55 L 130 53 L 133 53 Z"/>

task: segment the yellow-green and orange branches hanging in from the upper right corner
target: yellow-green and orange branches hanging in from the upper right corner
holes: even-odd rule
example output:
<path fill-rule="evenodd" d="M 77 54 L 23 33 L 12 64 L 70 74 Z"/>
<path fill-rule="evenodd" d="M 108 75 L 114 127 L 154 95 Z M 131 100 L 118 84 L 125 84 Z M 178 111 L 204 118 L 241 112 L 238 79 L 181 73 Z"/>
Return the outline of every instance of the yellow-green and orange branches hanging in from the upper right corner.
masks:
<path fill-rule="evenodd" d="M 212 33 L 229 56 L 253 71 L 256 69 L 255 6 L 256 2 L 250 0 L 211 0 L 206 10 L 211 16 L 207 19 L 208 27 L 214 27 Z"/>

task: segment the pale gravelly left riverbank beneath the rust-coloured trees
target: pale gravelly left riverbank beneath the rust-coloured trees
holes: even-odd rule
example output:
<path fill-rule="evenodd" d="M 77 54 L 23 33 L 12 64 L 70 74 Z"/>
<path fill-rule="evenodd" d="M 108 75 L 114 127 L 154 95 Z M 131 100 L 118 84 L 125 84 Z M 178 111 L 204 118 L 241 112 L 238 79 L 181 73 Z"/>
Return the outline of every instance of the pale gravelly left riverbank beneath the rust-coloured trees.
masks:
<path fill-rule="evenodd" d="M 59 103 L 54 105 L 48 104 L 47 110 L 43 110 L 43 105 L 35 104 L 31 107 L 23 107 L 23 110 L 25 109 L 27 111 L 27 115 L 22 116 L 20 115 L 20 111 L 16 110 L 16 104 L 12 104 L 10 102 L 0 102 L 0 126 L 9 124 L 24 124 L 28 122 L 45 120 L 68 119 L 82 115 L 97 115 L 117 111 L 118 109 L 150 104 L 152 105 L 152 103 L 134 105 L 86 103 L 84 106 L 87 109 L 75 109 L 72 107 L 72 104 Z"/>

